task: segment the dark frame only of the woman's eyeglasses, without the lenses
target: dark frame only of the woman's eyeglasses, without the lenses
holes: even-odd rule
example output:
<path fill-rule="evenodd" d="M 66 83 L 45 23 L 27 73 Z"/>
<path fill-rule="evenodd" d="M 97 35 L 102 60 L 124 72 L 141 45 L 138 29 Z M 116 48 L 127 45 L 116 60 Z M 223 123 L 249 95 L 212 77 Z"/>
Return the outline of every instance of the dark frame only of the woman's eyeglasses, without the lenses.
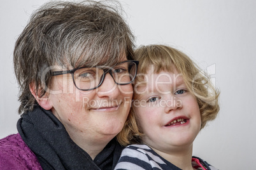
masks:
<path fill-rule="evenodd" d="M 95 88 L 91 88 L 91 89 L 80 89 L 80 88 L 78 88 L 78 86 L 76 86 L 76 82 L 75 82 L 75 78 L 74 78 L 74 73 L 75 73 L 76 70 L 83 69 L 83 68 L 90 68 L 90 67 L 85 66 L 85 67 L 78 67 L 78 68 L 75 68 L 75 69 L 72 69 L 72 70 L 55 71 L 55 72 L 51 72 L 51 75 L 55 76 L 55 75 L 62 75 L 62 74 L 71 74 L 72 75 L 72 79 L 73 79 L 73 83 L 75 84 L 76 88 L 80 89 L 82 91 L 89 91 L 89 90 L 92 90 L 92 89 L 99 88 L 99 86 L 101 86 L 101 84 L 103 84 L 103 81 L 105 79 L 105 75 L 108 74 L 108 73 L 110 73 L 110 75 L 113 78 L 115 84 L 117 84 L 117 85 L 126 85 L 126 84 L 130 84 L 132 81 L 134 81 L 134 79 L 135 79 L 135 77 L 137 75 L 138 65 L 139 65 L 139 61 L 136 61 L 136 60 L 127 60 L 127 61 L 124 61 L 124 62 L 117 63 L 117 65 L 119 65 L 121 63 L 127 63 L 127 62 L 133 62 L 136 65 L 136 68 L 135 68 L 136 70 L 135 70 L 134 77 L 132 78 L 132 80 L 130 82 L 118 83 L 118 82 L 115 81 L 115 79 L 114 79 L 114 77 L 112 75 L 111 69 L 102 69 L 101 67 L 103 67 L 103 66 L 95 66 L 95 67 L 99 67 L 100 69 L 103 70 L 103 75 L 101 76 L 101 82 L 99 82 L 99 84 Z M 113 67 L 115 67 L 115 66 L 113 66 Z"/>

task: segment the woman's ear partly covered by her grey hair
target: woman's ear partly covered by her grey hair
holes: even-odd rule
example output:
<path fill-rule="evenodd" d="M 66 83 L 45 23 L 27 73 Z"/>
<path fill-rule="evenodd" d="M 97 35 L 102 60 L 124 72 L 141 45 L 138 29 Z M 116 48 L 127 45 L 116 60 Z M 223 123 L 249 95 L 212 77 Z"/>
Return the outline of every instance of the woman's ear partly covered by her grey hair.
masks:
<path fill-rule="evenodd" d="M 31 83 L 29 85 L 29 89 L 41 107 L 43 107 L 45 110 L 50 110 L 52 108 L 52 102 L 50 101 L 50 98 L 49 98 L 50 95 L 47 91 L 45 95 L 38 96 L 38 94 L 40 94 L 40 91 L 42 91 L 43 89 L 42 88 L 36 89 L 36 86 L 34 85 L 34 83 Z"/>

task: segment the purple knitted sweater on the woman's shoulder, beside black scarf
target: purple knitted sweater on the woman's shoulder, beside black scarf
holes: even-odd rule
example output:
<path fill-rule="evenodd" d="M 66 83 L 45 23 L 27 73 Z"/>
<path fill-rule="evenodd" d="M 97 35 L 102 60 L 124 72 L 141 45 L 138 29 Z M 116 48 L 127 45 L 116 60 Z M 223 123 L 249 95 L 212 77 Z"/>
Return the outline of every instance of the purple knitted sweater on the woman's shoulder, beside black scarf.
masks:
<path fill-rule="evenodd" d="M 42 167 L 20 134 L 11 134 L 0 140 L 0 169 L 41 170 Z"/>

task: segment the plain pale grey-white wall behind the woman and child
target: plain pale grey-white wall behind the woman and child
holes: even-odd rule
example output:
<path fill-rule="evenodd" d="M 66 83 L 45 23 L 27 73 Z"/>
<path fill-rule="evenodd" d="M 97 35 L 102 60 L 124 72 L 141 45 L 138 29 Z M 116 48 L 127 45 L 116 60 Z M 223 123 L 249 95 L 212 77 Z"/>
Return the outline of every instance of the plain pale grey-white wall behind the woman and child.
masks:
<path fill-rule="evenodd" d="M 0 138 L 17 133 L 13 47 L 44 0 L 1 1 Z M 256 1 L 122 0 L 141 44 L 169 44 L 206 70 L 220 89 L 220 113 L 194 141 L 194 155 L 218 169 L 255 169 Z"/>

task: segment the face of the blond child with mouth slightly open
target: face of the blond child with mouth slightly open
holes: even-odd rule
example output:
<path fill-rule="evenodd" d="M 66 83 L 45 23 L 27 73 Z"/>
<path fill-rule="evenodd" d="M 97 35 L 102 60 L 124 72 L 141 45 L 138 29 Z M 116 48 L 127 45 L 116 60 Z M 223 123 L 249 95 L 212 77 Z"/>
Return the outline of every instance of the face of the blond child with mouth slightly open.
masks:
<path fill-rule="evenodd" d="M 192 148 L 201 129 L 201 115 L 197 100 L 188 92 L 181 74 L 176 70 L 148 72 L 146 79 L 145 86 L 135 88 L 139 95 L 134 100 L 139 128 L 145 133 L 143 143 L 160 152 Z"/>

